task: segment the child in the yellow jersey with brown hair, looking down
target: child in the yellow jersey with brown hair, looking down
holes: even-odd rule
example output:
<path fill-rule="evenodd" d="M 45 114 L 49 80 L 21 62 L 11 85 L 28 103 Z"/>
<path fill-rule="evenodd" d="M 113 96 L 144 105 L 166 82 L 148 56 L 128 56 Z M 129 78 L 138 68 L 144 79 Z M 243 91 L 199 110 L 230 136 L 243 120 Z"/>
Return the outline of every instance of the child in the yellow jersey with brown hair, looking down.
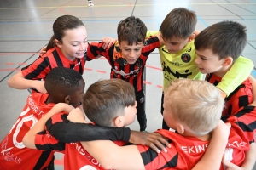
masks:
<path fill-rule="evenodd" d="M 164 76 L 163 90 L 170 82 L 178 78 L 202 79 L 202 73 L 195 65 L 195 25 L 197 19 L 195 12 L 186 8 L 174 8 L 166 15 L 160 26 L 160 35 L 164 45 L 159 49 L 160 62 Z M 148 31 L 147 37 L 154 36 L 159 31 Z M 249 77 L 253 70 L 253 62 L 250 59 L 239 57 L 230 68 L 218 88 L 223 96 L 229 96 L 244 80 Z M 161 99 L 161 114 L 163 114 L 163 99 Z M 162 128 L 169 129 L 163 120 Z"/>

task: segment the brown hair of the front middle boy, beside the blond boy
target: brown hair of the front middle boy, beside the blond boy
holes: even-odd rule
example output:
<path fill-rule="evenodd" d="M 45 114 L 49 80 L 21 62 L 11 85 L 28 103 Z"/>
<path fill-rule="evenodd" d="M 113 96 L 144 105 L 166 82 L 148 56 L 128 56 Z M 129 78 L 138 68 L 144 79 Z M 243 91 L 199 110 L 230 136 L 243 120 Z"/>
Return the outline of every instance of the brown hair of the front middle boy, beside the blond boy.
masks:
<path fill-rule="evenodd" d="M 83 108 L 91 122 L 110 127 L 116 116 L 124 114 L 125 107 L 135 105 L 135 100 L 132 85 L 113 78 L 91 84 L 84 94 Z"/>

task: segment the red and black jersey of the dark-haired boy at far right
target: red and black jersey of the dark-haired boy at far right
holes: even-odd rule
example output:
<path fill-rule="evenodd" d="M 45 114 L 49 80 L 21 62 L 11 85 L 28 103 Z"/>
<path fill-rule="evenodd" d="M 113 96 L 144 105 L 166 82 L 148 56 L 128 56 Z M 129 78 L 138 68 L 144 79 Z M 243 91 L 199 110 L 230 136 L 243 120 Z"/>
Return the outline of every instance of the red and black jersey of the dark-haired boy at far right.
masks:
<path fill-rule="evenodd" d="M 206 81 L 214 86 L 221 82 L 221 77 L 214 73 L 207 74 Z M 241 83 L 227 98 L 225 98 L 225 107 L 223 115 L 234 115 L 241 107 L 247 106 L 253 102 L 253 88 L 249 78 Z"/>

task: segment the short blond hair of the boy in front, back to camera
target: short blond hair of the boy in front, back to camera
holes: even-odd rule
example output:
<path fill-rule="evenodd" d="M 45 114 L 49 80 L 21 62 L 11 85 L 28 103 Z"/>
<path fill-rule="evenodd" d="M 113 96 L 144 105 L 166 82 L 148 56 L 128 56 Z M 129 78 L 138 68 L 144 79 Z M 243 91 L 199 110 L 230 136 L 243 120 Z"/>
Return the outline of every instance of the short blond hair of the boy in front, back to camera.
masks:
<path fill-rule="evenodd" d="M 224 108 L 218 88 L 207 81 L 188 78 L 170 83 L 165 91 L 165 102 L 177 122 L 198 136 L 217 127 Z"/>

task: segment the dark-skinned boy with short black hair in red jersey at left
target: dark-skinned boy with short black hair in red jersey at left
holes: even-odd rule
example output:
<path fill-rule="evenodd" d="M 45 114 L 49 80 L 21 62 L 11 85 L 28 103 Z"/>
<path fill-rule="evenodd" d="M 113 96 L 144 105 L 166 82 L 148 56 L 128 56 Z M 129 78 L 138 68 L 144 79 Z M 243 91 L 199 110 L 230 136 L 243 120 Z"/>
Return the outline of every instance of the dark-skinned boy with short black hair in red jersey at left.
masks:
<path fill-rule="evenodd" d="M 28 149 L 22 143 L 22 139 L 26 132 L 44 117 L 55 104 L 66 103 L 72 107 L 78 106 L 83 99 L 84 85 L 83 77 L 78 71 L 65 67 L 56 67 L 49 71 L 44 83 L 49 94 L 30 94 L 19 118 L 1 142 L 0 169 L 41 169 L 45 167 L 53 169 L 53 162 L 52 164 L 49 163 L 53 159 L 54 152 Z M 59 131 L 59 133 L 62 134 L 63 132 Z M 86 136 L 84 136 L 84 140 L 105 137 L 127 142 L 130 135 L 133 136 L 129 128 L 97 127 L 89 124 L 84 124 L 83 134 Z M 131 140 L 136 141 L 137 138 L 131 137 Z M 146 140 L 143 141 L 147 143 Z"/>

